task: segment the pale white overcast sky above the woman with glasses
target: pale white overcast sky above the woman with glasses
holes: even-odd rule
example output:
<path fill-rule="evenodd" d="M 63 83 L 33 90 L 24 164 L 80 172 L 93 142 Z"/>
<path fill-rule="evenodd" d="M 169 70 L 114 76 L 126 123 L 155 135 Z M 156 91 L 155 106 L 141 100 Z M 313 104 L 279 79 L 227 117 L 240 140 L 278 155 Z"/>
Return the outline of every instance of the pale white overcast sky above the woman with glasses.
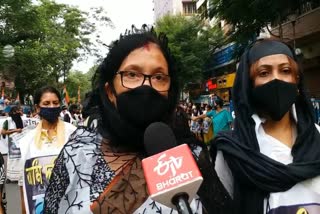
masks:
<path fill-rule="evenodd" d="M 101 39 L 105 44 L 119 38 L 132 24 L 153 24 L 153 0 L 56 0 L 58 3 L 70 4 L 80 10 L 89 11 L 91 7 L 102 6 L 111 19 L 114 29 L 102 29 Z M 95 59 L 89 57 L 87 62 L 74 63 L 73 69 L 87 72 L 94 65 Z"/>

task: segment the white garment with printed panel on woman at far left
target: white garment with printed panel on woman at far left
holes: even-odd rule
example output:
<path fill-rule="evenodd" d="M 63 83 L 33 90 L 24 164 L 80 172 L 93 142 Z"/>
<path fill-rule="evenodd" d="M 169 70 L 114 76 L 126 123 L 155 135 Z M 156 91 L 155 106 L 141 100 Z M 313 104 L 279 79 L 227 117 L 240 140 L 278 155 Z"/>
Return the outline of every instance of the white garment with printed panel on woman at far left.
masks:
<path fill-rule="evenodd" d="M 76 127 L 70 123 L 63 123 L 66 143 Z M 44 193 L 49 183 L 51 170 L 63 147 L 63 145 L 57 147 L 48 142 L 43 143 L 39 149 L 35 145 L 35 135 L 36 129 L 33 129 L 20 140 L 23 170 L 20 171 L 19 185 L 23 185 L 27 213 L 42 213 Z"/>

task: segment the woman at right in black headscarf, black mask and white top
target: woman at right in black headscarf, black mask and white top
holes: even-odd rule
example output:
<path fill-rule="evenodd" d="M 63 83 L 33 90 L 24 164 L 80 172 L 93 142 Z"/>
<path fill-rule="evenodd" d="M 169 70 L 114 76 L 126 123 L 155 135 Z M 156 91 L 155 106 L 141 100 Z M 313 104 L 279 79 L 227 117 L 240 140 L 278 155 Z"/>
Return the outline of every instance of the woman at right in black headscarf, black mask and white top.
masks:
<path fill-rule="evenodd" d="M 294 51 L 255 42 L 233 87 L 235 128 L 210 151 L 234 213 L 320 213 L 320 134 Z"/>

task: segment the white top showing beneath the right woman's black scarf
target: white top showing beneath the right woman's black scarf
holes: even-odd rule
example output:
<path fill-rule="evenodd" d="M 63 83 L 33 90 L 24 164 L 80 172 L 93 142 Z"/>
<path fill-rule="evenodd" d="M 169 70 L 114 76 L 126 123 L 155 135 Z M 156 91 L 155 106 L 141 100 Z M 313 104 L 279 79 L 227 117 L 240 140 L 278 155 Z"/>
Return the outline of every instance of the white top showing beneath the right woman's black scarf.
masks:
<path fill-rule="evenodd" d="M 265 133 L 263 129 L 264 119 L 259 118 L 258 115 L 253 115 L 255 125 L 255 132 L 258 139 L 260 152 L 273 160 L 283 164 L 290 164 L 293 161 L 291 155 L 291 148 L 275 139 L 274 137 Z M 294 114 L 296 119 L 296 115 Z M 315 124 L 318 131 L 320 127 Z M 296 138 L 294 134 L 293 139 Z M 215 169 L 217 174 L 228 190 L 229 194 L 233 196 L 233 176 L 226 161 L 223 158 L 221 151 L 218 151 L 215 162 Z M 269 202 L 269 209 L 267 212 L 267 202 Z M 297 183 L 291 189 L 285 192 L 271 193 L 269 200 L 264 201 L 264 213 L 280 214 L 280 213 L 320 213 L 320 176 Z"/>

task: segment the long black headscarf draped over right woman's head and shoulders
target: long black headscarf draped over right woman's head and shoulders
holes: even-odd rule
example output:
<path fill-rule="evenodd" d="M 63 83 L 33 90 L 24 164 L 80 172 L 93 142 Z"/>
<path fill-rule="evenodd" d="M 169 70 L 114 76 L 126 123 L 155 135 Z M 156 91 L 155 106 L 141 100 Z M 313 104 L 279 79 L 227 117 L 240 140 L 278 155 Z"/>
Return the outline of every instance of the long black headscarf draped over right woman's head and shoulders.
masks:
<path fill-rule="evenodd" d="M 223 152 L 234 177 L 235 213 L 262 214 L 263 202 L 272 192 L 282 192 L 295 184 L 320 175 L 320 134 L 315 127 L 311 102 L 303 86 L 299 67 L 299 95 L 295 102 L 298 117 L 297 139 L 292 147 L 293 162 L 285 165 L 260 153 L 250 92 L 250 66 L 261 57 L 285 54 L 297 62 L 286 44 L 262 40 L 253 44 L 241 57 L 233 86 L 236 119 L 234 131 L 220 133 L 212 143 L 211 156 Z"/>

